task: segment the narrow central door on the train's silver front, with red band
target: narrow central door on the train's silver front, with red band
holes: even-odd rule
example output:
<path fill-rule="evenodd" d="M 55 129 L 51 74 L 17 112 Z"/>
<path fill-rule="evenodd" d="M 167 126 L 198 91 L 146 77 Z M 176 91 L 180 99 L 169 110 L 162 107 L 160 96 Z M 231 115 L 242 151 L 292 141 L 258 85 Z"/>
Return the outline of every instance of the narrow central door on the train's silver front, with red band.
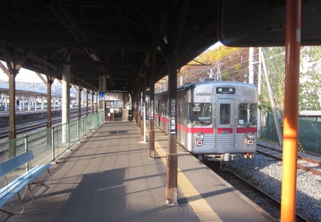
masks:
<path fill-rule="evenodd" d="M 234 100 L 218 99 L 216 101 L 216 141 L 215 147 L 234 148 Z"/>

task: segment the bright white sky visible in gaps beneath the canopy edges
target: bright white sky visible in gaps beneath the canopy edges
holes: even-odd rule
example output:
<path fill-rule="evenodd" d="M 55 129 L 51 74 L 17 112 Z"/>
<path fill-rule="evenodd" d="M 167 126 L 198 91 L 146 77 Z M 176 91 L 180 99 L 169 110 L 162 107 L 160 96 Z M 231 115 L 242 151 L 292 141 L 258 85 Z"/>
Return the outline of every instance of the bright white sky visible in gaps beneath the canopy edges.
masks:
<path fill-rule="evenodd" d="M 217 48 L 219 46 L 221 46 L 222 43 L 221 42 L 217 42 L 216 44 L 212 45 L 211 47 L 209 47 L 209 49 L 214 49 Z M 3 61 L 0 61 L 5 67 L 6 64 Z M 42 75 L 45 79 L 45 75 Z M 2 70 L 0 69 L 0 79 L 4 80 L 4 81 L 8 81 L 9 77 L 2 72 Z M 30 71 L 30 70 L 26 70 L 24 68 L 21 68 L 19 73 L 16 76 L 16 81 L 19 82 L 35 82 L 35 83 L 42 83 L 42 80 L 39 78 L 39 76 L 37 74 L 35 74 L 35 72 Z M 55 80 L 57 81 L 57 80 Z"/>

